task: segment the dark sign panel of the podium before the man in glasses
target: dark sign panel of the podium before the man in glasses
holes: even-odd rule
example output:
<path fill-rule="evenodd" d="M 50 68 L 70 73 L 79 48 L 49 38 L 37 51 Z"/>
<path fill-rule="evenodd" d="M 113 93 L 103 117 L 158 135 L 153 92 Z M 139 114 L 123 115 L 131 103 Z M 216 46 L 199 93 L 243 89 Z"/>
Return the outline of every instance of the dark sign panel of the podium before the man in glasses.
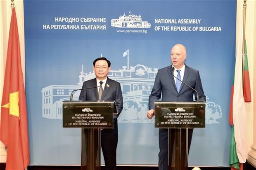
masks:
<path fill-rule="evenodd" d="M 63 101 L 63 128 L 114 128 L 114 101 Z"/>

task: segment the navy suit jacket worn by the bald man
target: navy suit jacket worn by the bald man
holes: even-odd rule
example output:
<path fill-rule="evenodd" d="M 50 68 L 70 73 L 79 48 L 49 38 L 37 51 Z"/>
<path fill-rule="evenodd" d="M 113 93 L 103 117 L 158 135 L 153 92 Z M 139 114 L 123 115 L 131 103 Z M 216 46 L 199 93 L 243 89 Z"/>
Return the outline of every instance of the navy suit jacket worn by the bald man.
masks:
<path fill-rule="evenodd" d="M 206 101 L 198 70 L 194 70 L 185 65 L 183 82 L 198 92 L 200 102 Z M 191 102 L 193 101 L 194 93 L 195 92 L 191 88 L 183 83 L 181 84 L 180 92 L 178 93 L 173 77 L 172 65 L 159 69 L 151 94 L 149 95 L 149 110 L 154 109 L 154 101 L 158 101 L 160 98 L 162 98 L 162 101 Z M 197 98 L 196 94 L 195 97 Z"/>

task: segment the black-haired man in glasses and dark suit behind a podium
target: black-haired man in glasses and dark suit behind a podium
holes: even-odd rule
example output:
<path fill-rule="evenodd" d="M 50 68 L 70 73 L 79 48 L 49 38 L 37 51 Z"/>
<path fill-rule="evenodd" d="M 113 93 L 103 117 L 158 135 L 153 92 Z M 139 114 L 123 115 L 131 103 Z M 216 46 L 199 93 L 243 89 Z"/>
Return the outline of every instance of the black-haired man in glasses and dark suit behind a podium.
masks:
<path fill-rule="evenodd" d="M 115 101 L 117 107 L 117 115 L 114 115 L 114 128 L 105 128 L 101 131 L 101 147 L 104 156 L 106 170 L 116 170 L 116 147 L 118 141 L 117 117 L 123 109 L 123 95 L 119 82 L 107 77 L 110 70 L 110 61 L 107 58 L 100 57 L 93 61 L 93 70 L 96 78 L 83 82 L 79 100 L 82 101 Z M 97 87 L 98 88 L 92 88 Z M 99 96 L 100 86 L 102 86 L 101 98 Z"/>

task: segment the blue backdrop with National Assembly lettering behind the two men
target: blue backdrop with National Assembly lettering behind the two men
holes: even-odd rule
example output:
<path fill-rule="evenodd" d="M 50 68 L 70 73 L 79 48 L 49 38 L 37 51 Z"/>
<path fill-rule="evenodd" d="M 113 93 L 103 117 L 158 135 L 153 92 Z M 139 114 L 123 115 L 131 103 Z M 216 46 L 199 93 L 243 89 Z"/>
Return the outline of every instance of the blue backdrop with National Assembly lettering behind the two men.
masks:
<path fill-rule="evenodd" d="M 30 165 L 80 164 L 81 130 L 62 128 L 62 101 L 95 77 L 92 62 L 100 56 L 111 61 L 109 77 L 123 91 L 117 163 L 156 165 L 158 129 L 146 118 L 148 96 L 157 70 L 171 64 L 171 47 L 181 43 L 207 96 L 206 128 L 194 130 L 189 165 L 228 166 L 236 3 L 24 0 Z"/>

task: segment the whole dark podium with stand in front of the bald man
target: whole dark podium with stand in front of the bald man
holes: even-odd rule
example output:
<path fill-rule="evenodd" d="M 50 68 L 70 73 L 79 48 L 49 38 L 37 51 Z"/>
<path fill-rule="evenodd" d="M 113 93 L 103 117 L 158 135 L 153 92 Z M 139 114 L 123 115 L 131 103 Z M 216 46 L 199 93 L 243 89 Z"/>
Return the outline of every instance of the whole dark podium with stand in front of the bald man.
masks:
<path fill-rule="evenodd" d="M 155 128 L 168 128 L 169 170 L 187 170 L 188 131 L 205 128 L 205 102 L 154 102 Z"/>

